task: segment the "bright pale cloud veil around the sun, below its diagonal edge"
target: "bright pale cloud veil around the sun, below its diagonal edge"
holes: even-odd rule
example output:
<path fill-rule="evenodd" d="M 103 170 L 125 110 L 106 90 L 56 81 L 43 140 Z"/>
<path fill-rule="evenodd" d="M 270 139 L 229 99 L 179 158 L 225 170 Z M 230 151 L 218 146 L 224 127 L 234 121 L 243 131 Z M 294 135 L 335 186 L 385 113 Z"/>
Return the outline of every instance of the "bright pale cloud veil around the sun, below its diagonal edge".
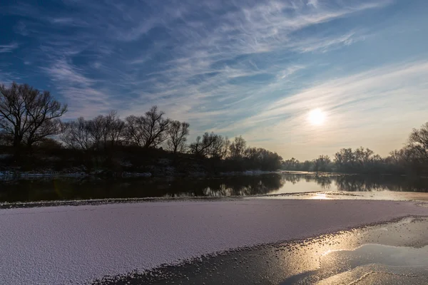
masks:
<path fill-rule="evenodd" d="M 427 76 L 427 61 L 374 68 L 300 90 L 228 128 L 251 125 L 249 138 L 267 138 L 270 147 L 302 158 L 360 145 L 387 155 L 427 120 L 428 103 L 421 100 L 428 93 Z M 327 113 L 322 127 L 307 122 L 314 108 Z"/>

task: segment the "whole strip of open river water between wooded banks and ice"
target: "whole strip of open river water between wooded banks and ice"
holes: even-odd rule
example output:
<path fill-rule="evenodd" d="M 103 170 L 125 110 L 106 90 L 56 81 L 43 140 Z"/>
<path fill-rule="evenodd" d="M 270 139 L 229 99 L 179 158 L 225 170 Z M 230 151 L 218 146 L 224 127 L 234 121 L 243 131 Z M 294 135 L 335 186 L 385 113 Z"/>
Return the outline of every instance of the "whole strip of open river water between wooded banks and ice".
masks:
<path fill-rule="evenodd" d="M 58 178 L 0 181 L 0 202 L 132 197 L 223 197 L 320 191 L 428 192 L 422 177 L 269 174 L 217 178 L 101 180 Z"/>

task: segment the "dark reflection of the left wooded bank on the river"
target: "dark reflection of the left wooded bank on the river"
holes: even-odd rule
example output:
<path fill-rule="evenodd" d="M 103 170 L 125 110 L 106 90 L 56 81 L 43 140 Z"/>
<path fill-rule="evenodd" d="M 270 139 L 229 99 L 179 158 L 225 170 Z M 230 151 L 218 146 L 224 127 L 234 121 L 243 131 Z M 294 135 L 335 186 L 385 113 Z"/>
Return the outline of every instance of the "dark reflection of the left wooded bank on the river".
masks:
<path fill-rule="evenodd" d="M 136 197 L 220 197 L 265 195 L 284 185 L 280 175 L 212 179 L 102 180 L 59 178 L 0 181 L 0 202 Z"/>

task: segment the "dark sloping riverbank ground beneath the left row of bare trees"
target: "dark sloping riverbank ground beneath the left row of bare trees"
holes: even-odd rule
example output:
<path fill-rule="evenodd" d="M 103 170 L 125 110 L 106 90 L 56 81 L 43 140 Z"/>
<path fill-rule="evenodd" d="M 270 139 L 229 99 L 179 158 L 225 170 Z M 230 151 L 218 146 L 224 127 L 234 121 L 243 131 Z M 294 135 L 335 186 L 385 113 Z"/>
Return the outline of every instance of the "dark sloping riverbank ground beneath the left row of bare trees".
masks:
<path fill-rule="evenodd" d="M 0 176 L 201 177 L 272 171 L 281 166 L 277 156 L 275 161 L 253 161 L 242 157 L 220 159 L 131 145 L 90 151 L 59 146 L 35 147 L 20 155 L 12 153 L 11 147 L 0 147 Z M 267 155 L 265 159 L 269 157 Z"/>

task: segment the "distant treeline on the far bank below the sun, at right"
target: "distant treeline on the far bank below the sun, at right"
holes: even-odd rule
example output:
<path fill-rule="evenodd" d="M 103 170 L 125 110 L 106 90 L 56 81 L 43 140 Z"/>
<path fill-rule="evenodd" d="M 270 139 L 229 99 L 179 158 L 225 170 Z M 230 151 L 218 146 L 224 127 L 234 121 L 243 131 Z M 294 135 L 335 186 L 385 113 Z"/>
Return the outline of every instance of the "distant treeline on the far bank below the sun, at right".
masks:
<path fill-rule="evenodd" d="M 320 155 L 315 160 L 300 162 L 294 157 L 282 163 L 284 170 L 315 172 L 344 172 L 365 174 L 428 174 L 428 123 L 412 130 L 406 145 L 401 150 L 389 152 L 381 157 L 364 147 L 352 150 L 342 148 L 333 158 Z"/>

